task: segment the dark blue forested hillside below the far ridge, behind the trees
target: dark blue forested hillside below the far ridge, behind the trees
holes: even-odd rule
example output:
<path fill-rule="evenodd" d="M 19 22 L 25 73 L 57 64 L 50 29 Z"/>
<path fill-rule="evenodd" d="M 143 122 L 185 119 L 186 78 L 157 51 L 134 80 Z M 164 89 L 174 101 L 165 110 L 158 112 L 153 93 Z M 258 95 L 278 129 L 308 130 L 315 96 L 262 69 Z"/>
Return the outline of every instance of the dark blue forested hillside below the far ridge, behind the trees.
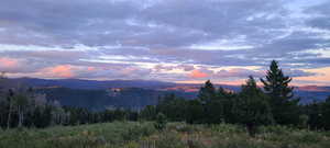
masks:
<path fill-rule="evenodd" d="M 180 91 L 157 91 L 141 88 L 120 89 L 69 89 L 69 88 L 42 88 L 36 92 L 46 94 L 47 100 L 58 101 L 62 105 L 86 107 L 92 111 L 109 107 L 124 107 L 141 110 L 146 105 L 156 105 L 158 99 L 165 94 L 174 93 L 184 99 L 194 99 L 195 93 Z"/>

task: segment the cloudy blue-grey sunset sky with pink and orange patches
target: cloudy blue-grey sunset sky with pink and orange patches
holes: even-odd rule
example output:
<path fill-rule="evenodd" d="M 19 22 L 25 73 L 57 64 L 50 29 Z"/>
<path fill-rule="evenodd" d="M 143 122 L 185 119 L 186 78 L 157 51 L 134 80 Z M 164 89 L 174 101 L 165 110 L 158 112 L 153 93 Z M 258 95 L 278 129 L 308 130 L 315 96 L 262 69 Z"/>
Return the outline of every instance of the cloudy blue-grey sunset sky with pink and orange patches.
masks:
<path fill-rule="evenodd" d="M 0 71 L 240 84 L 278 60 L 330 86 L 329 0 L 4 0 Z"/>

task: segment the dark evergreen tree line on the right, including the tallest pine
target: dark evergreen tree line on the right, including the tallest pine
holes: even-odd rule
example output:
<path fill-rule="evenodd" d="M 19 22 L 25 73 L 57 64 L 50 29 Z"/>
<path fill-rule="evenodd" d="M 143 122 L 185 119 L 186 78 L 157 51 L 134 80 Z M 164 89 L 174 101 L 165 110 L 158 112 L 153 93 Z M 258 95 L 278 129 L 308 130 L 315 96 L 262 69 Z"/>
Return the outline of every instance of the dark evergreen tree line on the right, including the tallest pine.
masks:
<path fill-rule="evenodd" d="M 262 87 L 250 76 L 240 92 L 215 88 L 207 81 L 198 98 L 185 100 L 173 94 L 161 99 L 155 106 L 146 106 L 140 116 L 153 121 L 164 114 L 169 121 L 190 124 L 241 124 L 250 132 L 262 125 L 285 125 L 310 129 L 330 129 L 330 96 L 323 102 L 299 104 L 294 95 L 293 80 L 273 60 Z"/>

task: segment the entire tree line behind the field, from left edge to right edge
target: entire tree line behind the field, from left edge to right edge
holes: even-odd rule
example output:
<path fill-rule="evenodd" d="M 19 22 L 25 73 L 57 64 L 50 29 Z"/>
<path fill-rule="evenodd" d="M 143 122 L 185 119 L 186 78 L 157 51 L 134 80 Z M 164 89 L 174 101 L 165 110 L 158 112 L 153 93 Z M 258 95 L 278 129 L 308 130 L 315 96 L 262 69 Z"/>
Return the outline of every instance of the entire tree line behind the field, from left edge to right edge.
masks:
<path fill-rule="evenodd" d="M 261 125 L 287 125 L 311 129 L 330 129 L 330 98 L 323 102 L 299 104 L 285 76 L 273 60 L 266 77 L 258 87 L 249 77 L 240 92 L 216 88 L 209 80 L 200 88 L 197 99 L 187 100 L 168 94 L 160 98 L 157 105 L 141 111 L 109 109 L 92 112 L 84 107 L 62 106 L 0 76 L 0 126 L 47 127 L 79 125 L 112 121 L 157 121 L 167 118 L 190 124 L 241 124 L 253 133 Z"/>

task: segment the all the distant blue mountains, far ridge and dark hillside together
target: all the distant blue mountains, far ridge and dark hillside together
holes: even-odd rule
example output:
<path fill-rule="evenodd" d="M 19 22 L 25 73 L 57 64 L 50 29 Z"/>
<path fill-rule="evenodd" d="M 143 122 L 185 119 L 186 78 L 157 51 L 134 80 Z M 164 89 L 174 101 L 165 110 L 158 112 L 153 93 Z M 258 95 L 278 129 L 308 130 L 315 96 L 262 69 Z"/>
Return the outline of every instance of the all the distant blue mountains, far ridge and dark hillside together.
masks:
<path fill-rule="evenodd" d="M 173 83 L 148 80 L 79 80 L 79 79 L 36 79 L 18 78 L 15 81 L 43 91 L 52 99 L 57 99 L 64 105 L 76 105 L 91 109 L 106 106 L 123 106 L 141 109 L 155 104 L 157 98 L 175 93 L 187 99 L 195 99 L 202 84 Z M 229 91 L 240 91 L 240 86 L 215 84 Z M 120 90 L 119 95 L 109 95 L 109 92 Z M 301 98 L 301 103 L 322 101 L 330 95 L 330 87 L 306 86 L 296 87 L 296 96 Z M 73 99 L 75 96 L 75 99 Z"/>

